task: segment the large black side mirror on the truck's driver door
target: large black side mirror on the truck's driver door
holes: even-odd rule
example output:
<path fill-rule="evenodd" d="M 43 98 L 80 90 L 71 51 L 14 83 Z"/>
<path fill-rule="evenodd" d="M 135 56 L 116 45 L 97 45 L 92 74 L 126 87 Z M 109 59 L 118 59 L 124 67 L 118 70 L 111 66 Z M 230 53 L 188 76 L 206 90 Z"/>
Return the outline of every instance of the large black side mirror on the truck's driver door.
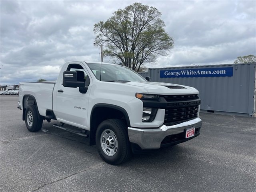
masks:
<path fill-rule="evenodd" d="M 64 87 L 84 87 L 84 82 L 77 81 L 76 71 L 64 71 L 62 84 Z"/>

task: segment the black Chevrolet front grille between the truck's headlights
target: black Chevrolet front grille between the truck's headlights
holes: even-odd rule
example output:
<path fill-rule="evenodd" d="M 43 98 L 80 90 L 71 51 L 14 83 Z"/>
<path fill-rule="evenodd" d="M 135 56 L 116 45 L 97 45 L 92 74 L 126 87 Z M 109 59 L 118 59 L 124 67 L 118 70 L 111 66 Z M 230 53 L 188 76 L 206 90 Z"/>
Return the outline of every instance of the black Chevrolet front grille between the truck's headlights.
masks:
<path fill-rule="evenodd" d="M 166 126 L 176 125 L 197 117 L 200 105 L 198 95 L 168 95 L 164 98 L 168 102 L 164 116 Z"/>

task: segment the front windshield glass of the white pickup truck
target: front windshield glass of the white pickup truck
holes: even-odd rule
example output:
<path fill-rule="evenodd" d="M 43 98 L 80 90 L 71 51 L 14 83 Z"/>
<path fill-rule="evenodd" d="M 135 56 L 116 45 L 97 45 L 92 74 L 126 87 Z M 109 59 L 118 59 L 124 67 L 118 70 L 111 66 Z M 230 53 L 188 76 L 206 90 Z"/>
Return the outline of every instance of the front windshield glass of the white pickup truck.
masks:
<path fill-rule="evenodd" d="M 100 80 L 100 64 L 87 64 L 95 77 Z M 146 81 L 142 76 L 128 67 L 102 64 L 101 66 L 102 81 Z"/>

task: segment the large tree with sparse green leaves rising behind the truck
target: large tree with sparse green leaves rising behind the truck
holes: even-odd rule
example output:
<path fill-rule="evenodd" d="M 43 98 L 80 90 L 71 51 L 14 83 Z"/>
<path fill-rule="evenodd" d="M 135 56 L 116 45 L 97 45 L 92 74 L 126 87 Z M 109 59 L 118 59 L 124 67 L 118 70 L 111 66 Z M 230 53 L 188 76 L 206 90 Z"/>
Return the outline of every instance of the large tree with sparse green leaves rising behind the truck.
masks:
<path fill-rule="evenodd" d="M 173 48 L 174 40 L 165 32 L 160 16 L 156 8 L 141 3 L 118 9 L 106 22 L 94 24 L 94 45 L 104 45 L 104 56 L 140 71 L 144 62 L 155 62 Z"/>

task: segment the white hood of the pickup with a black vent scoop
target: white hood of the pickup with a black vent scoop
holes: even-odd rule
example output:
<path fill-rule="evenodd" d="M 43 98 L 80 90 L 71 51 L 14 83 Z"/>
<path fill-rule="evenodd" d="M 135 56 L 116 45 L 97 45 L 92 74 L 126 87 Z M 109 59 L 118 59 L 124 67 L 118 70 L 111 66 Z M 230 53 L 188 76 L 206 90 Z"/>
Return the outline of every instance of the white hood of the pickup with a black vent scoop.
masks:
<path fill-rule="evenodd" d="M 193 87 L 164 82 L 127 82 L 125 84 L 145 88 L 149 94 L 198 94 Z"/>

